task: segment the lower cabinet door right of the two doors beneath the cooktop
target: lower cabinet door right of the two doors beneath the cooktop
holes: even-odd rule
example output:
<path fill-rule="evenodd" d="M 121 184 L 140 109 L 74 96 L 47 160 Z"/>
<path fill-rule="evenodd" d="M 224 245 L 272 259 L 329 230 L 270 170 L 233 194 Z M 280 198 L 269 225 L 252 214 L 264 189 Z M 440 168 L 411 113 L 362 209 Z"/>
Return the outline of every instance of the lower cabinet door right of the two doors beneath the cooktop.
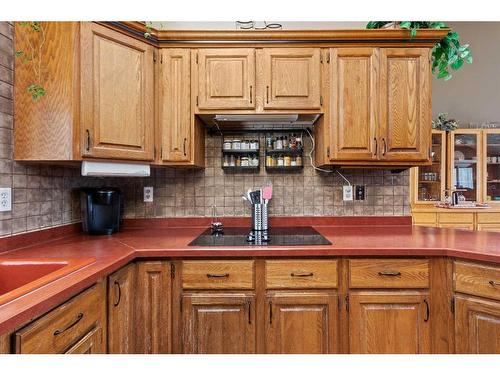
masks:
<path fill-rule="evenodd" d="M 428 297 L 418 292 L 349 295 L 350 353 L 430 352 Z"/>

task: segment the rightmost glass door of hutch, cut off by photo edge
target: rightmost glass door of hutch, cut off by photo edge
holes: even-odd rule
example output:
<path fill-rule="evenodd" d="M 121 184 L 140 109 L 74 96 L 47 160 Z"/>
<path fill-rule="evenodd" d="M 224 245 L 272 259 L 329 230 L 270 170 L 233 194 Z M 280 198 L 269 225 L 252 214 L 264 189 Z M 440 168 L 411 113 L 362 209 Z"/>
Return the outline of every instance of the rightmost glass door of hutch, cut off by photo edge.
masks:
<path fill-rule="evenodd" d="M 485 200 L 500 203 L 500 131 L 485 133 Z"/>

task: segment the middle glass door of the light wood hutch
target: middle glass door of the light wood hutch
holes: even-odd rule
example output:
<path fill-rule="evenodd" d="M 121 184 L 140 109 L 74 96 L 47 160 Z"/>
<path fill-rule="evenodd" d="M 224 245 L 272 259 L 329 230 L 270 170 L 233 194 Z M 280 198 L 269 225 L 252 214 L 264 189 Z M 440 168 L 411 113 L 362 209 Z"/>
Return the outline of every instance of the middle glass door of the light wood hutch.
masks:
<path fill-rule="evenodd" d="M 466 201 L 479 201 L 478 141 L 478 131 L 457 130 L 452 133 L 451 187 L 459 190 Z"/>

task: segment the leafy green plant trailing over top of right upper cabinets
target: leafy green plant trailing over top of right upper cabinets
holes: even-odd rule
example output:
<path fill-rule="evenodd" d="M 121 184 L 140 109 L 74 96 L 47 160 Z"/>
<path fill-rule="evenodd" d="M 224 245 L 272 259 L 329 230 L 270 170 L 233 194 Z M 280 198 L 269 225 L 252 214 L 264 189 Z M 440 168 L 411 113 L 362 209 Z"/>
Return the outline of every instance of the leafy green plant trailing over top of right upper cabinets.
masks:
<path fill-rule="evenodd" d="M 415 38 L 418 29 L 444 29 L 444 22 L 430 21 L 371 21 L 367 29 L 381 29 L 390 26 L 410 30 L 410 38 Z M 457 32 L 450 30 L 432 49 L 432 73 L 439 79 L 451 79 L 451 71 L 460 69 L 464 63 L 472 64 L 473 58 L 468 44 L 460 43 Z"/>

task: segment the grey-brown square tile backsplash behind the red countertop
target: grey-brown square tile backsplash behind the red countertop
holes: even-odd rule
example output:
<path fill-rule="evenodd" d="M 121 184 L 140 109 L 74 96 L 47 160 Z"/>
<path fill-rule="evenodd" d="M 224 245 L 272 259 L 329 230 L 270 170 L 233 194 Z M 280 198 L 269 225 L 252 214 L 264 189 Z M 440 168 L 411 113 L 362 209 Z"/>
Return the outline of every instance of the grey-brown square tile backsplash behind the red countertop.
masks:
<path fill-rule="evenodd" d="M 304 169 L 291 173 L 267 173 L 263 151 L 260 172 L 224 172 L 220 136 L 206 137 L 205 169 L 153 168 L 148 178 L 86 178 L 78 168 L 15 162 L 12 39 L 12 24 L 0 22 L 0 187 L 13 189 L 12 211 L 0 213 L 0 236 L 79 221 L 77 188 L 98 185 L 122 188 L 127 218 L 209 216 L 213 205 L 221 216 L 249 216 L 250 208 L 241 199 L 242 194 L 267 181 L 274 186 L 271 215 L 410 214 L 407 171 L 342 171 L 352 184 L 366 186 L 364 201 L 343 202 L 342 178 L 336 173 L 317 172 L 310 165 L 307 154 L 311 142 L 307 137 Z M 263 144 L 261 139 L 261 148 Z M 144 186 L 154 187 L 153 203 L 142 201 Z"/>

